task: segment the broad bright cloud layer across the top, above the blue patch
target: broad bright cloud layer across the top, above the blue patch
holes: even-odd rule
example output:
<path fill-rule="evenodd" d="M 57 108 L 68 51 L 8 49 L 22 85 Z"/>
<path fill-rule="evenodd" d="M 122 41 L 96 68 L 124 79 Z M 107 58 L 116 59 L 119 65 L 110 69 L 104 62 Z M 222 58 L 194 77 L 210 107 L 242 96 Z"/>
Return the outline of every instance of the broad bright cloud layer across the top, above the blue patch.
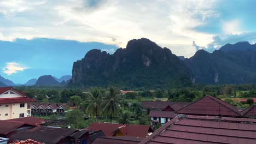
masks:
<path fill-rule="evenodd" d="M 249 0 L 0 1 L 0 40 L 43 37 L 125 47 L 127 41 L 145 37 L 190 57 L 195 45 L 214 50 L 220 41 L 233 37 L 240 41 L 243 35 L 254 34 L 255 4 Z"/>

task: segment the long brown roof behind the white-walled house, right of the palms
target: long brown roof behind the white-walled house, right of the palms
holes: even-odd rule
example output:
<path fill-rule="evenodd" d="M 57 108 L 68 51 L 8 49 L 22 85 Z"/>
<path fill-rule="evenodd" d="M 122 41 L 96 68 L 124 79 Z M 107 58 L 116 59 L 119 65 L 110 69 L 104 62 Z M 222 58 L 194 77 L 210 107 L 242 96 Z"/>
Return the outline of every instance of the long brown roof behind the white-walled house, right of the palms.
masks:
<path fill-rule="evenodd" d="M 181 107 L 188 105 L 188 102 L 173 102 L 173 101 L 142 101 L 141 106 L 144 109 L 153 108 L 153 109 L 165 109 L 168 105 L 177 104 Z"/>

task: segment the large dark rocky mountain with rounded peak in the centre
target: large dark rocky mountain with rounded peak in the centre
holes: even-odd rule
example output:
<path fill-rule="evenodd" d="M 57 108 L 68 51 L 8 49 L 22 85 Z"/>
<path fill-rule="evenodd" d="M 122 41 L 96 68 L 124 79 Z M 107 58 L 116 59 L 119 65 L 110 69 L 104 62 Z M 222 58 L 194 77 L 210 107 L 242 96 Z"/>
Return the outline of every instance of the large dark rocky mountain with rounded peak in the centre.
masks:
<path fill-rule="evenodd" d="M 119 85 L 129 87 L 189 86 L 191 80 L 184 62 L 170 49 L 146 38 L 133 39 L 126 49 L 113 55 L 91 50 L 73 64 L 71 86 Z"/>

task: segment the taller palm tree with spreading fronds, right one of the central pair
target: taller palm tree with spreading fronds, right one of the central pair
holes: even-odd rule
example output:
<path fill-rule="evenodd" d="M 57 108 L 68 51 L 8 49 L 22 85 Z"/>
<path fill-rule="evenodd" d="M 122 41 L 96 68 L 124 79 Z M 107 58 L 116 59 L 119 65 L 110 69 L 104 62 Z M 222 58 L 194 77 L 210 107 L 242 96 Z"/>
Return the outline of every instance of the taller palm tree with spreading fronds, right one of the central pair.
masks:
<path fill-rule="evenodd" d="M 112 123 L 113 116 L 118 115 L 118 106 L 121 104 L 121 101 L 124 99 L 120 97 L 120 95 L 117 94 L 115 91 L 115 88 L 113 86 L 109 87 L 109 92 L 106 95 L 106 98 L 104 100 L 104 112 L 110 117 L 110 123 Z"/>

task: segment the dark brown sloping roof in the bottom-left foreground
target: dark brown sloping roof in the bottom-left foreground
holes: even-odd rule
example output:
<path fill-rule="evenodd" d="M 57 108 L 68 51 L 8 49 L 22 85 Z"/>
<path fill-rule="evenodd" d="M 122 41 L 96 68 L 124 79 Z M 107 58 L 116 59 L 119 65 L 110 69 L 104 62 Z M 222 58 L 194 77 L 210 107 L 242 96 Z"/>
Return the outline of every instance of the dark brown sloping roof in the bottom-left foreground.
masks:
<path fill-rule="evenodd" d="M 75 131 L 76 129 L 38 126 L 33 129 L 20 131 L 19 133 L 13 134 L 10 136 L 10 139 L 33 139 L 44 143 L 57 143 L 65 137 L 73 134 Z"/>

